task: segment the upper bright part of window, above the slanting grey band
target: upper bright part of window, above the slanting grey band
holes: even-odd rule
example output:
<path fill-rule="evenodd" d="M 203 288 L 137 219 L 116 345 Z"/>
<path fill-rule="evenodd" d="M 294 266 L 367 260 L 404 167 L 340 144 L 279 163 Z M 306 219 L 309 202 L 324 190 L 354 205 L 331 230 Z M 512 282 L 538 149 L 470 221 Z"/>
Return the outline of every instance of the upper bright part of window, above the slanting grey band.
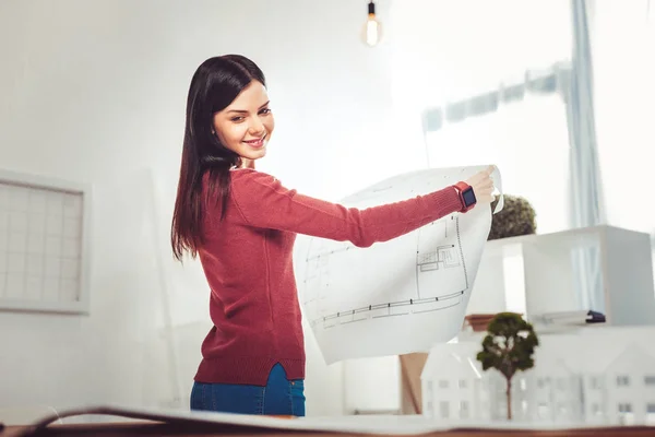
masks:
<path fill-rule="evenodd" d="M 420 109 L 473 97 L 507 85 L 508 79 L 521 80 L 528 69 L 571 59 L 569 2 L 405 0 L 393 2 L 390 13 L 393 98 L 413 101 Z"/>

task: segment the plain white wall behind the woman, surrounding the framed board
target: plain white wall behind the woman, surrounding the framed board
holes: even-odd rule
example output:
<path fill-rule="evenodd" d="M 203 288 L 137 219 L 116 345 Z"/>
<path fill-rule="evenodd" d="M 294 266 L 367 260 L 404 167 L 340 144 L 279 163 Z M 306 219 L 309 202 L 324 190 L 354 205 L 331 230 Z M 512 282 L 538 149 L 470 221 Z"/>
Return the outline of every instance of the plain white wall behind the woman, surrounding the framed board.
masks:
<path fill-rule="evenodd" d="M 277 131 L 261 168 L 287 185 L 338 199 L 419 164 L 422 144 L 398 143 L 390 123 L 391 50 L 358 39 L 365 3 L 0 2 L 0 165 L 96 190 L 91 316 L 0 312 L 0 406 L 162 404 L 176 383 L 188 395 L 207 290 L 198 264 L 171 262 L 167 238 L 186 93 L 207 57 L 263 68 Z M 307 349 L 308 414 L 341 414 L 342 367 L 322 363 L 310 332 Z"/>

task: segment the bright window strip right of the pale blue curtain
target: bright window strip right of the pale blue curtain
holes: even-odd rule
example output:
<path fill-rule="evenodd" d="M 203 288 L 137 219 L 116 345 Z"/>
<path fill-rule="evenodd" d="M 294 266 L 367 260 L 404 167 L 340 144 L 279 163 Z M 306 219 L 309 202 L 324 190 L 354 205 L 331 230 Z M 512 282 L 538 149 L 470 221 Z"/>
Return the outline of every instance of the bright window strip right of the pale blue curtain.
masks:
<path fill-rule="evenodd" d="M 592 47 L 598 157 L 609 224 L 654 233 L 655 210 L 639 190 L 653 170 L 655 22 L 650 0 L 594 2 Z M 655 4 L 650 2 L 653 16 Z M 630 47 L 630 50 L 624 50 Z M 630 74 L 626 74 L 630 71 Z M 655 258 L 654 258 L 655 261 Z"/>

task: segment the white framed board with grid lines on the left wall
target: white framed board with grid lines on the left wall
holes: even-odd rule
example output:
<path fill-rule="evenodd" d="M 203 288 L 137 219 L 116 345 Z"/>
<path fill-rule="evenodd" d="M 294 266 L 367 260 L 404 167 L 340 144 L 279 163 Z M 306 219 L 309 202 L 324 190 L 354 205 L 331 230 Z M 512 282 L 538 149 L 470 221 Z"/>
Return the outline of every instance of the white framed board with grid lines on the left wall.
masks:
<path fill-rule="evenodd" d="M 91 189 L 0 170 L 0 310 L 88 312 Z"/>

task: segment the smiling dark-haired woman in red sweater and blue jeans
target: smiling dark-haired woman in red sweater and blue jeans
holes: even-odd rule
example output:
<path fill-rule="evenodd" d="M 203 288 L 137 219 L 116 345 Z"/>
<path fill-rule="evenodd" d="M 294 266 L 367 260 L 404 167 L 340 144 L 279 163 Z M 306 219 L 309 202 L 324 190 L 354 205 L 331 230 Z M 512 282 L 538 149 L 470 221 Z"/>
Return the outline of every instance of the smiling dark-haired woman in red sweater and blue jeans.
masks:
<path fill-rule="evenodd" d="M 214 323 L 202 344 L 192 410 L 305 415 L 305 349 L 293 271 L 296 234 L 358 247 L 455 211 L 448 187 L 367 210 L 312 199 L 254 169 L 274 130 L 262 71 L 242 56 L 203 62 L 191 80 L 172 218 L 175 256 L 199 256 Z M 466 184 L 492 200 L 492 168 Z"/>

